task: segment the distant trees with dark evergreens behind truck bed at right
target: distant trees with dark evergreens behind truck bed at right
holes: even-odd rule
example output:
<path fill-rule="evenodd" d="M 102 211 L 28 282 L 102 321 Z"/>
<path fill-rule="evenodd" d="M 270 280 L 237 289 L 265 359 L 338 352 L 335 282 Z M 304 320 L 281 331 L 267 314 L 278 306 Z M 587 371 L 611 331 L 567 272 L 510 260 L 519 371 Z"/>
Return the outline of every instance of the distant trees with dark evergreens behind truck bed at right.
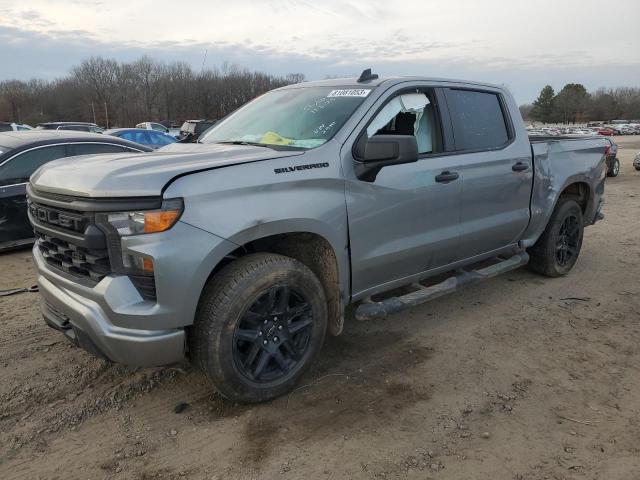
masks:
<path fill-rule="evenodd" d="M 640 120 L 640 88 L 600 88 L 589 93 L 580 83 L 568 83 L 556 93 L 546 85 L 520 112 L 526 120 L 544 123 Z"/>

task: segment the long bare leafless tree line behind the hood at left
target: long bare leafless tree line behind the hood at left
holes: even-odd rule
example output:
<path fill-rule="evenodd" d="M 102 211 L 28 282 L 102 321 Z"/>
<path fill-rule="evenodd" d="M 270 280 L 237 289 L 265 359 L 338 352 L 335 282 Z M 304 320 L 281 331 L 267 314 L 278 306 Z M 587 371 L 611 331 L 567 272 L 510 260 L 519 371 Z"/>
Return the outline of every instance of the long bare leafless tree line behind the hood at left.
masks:
<path fill-rule="evenodd" d="M 274 76 L 229 64 L 194 71 L 186 62 L 148 56 L 128 63 L 91 57 L 55 80 L 0 82 L 0 120 L 130 127 L 218 119 L 268 90 L 301 81 L 302 74 Z"/>

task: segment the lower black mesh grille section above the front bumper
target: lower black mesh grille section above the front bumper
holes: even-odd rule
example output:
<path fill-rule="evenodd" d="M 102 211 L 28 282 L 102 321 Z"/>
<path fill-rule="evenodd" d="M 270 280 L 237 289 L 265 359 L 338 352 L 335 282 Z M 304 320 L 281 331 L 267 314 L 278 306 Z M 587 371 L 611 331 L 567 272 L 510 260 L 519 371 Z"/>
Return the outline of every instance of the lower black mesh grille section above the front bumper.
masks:
<path fill-rule="evenodd" d="M 96 283 L 111 272 L 106 249 L 83 248 L 37 230 L 36 238 L 42 256 L 51 267 Z"/>

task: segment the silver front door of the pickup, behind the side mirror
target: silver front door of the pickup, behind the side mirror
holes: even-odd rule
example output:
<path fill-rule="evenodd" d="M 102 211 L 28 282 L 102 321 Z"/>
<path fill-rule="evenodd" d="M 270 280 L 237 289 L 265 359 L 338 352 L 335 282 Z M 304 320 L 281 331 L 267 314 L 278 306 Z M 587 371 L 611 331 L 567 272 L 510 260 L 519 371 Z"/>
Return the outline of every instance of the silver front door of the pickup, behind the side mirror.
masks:
<path fill-rule="evenodd" d="M 435 92 L 406 87 L 374 106 L 362 135 L 412 134 L 420 159 L 360 179 L 345 157 L 346 199 L 355 297 L 447 265 L 458 257 L 462 176 L 459 159 L 443 155 L 445 139 Z M 348 145 L 348 144 L 347 144 Z M 347 147 L 350 148 L 350 147 Z"/>

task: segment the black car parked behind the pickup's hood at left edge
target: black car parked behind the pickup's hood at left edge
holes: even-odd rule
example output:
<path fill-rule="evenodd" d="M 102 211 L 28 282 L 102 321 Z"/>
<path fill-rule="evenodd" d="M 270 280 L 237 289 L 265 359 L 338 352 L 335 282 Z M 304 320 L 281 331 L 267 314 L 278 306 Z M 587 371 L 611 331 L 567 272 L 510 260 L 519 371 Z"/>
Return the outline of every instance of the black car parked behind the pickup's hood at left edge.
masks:
<path fill-rule="evenodd" d="M 150 148 L 95 133 L 43 131 L 0 133 L 0 251 L 33 242 L 26 185 L 41 165 L 58 158 L 98 153 L 149 152 Z M 42 215 L 47 215 L 43 211 Z M 73 216 L 56 222 L 72 222 Z"/>

